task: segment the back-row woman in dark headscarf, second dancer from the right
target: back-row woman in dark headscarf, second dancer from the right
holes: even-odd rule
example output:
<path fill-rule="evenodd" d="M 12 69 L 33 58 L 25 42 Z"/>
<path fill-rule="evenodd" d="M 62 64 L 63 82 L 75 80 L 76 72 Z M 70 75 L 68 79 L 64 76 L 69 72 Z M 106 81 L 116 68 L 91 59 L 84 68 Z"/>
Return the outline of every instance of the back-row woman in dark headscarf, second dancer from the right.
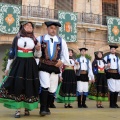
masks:
<path fill-rule="evenodd" d="M 97 108 L 103 108 L 102 101 L 108 101 L 108 86 L 105 74 L 107 63 L 103 59 L 103 52 L 95 52 L 95 60 L 92 63 L 95 82 L 91 84 L 89 99 L 96 100 Z"/>

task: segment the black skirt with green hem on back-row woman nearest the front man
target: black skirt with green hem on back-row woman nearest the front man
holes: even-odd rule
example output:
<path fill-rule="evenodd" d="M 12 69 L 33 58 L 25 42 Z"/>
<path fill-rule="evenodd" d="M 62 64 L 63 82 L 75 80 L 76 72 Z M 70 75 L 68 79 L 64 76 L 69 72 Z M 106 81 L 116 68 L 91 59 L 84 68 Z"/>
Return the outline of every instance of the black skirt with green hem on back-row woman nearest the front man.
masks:
<path fill-rule="evenodd" d="M 57 89 L 57 102 L 71 103 L 76 100 L 77 80 L 74 70 L 65 70 L 62 74 L 63 81 Z"/>

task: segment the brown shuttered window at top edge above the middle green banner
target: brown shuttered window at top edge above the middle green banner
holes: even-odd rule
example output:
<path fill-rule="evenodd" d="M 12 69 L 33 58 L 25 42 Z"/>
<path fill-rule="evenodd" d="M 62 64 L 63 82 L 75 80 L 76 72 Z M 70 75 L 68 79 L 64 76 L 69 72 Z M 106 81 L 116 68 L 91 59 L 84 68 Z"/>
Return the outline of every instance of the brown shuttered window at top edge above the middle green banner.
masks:
<path fill-rule="evenodd" d="M 73 0 L 55 0 L 55 9 L 73 11 Z"/>

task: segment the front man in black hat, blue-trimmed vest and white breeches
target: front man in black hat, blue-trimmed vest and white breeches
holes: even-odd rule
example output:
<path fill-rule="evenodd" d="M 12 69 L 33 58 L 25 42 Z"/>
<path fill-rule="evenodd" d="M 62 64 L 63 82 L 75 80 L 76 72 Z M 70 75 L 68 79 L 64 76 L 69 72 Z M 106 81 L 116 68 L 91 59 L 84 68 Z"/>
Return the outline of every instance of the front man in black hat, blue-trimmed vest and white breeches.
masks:
<path fill-rule="evenodd" d="M 57 36 L 57 29 L 61 27 L 59 22 L 45 22 L 48 34 L 39 36 L 37 40 L 41 43 L 41 58 L 39 64 L 40 80 L 40 115 L 50 114 L 54 93 L 58 86 L 59 67 L 63 63 L 69 64 L 68 48 L 65 40 Z"/>

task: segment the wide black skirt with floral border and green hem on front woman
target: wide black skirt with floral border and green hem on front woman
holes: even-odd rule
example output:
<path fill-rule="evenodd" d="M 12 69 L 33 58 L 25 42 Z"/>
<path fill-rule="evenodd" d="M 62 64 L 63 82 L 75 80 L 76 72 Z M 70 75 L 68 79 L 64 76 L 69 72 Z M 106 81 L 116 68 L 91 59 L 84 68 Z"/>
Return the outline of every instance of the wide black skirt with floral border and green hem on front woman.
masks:
<path fill-rule="evenodd" d="M 38 67 L 33 57 L 17 57 L 0 85 L 0 102 L 10 109 L 38 107 Z"/>

